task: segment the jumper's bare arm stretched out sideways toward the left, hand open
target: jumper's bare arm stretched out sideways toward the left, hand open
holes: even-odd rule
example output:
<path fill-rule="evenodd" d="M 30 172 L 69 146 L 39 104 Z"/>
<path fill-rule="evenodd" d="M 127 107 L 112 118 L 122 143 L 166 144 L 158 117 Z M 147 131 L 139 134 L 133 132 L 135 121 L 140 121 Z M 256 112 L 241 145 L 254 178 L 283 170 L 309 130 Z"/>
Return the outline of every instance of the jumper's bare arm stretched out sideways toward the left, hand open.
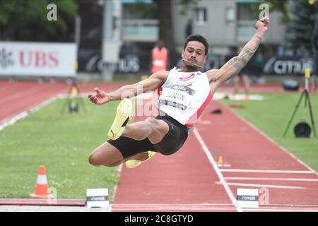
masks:
<path fill-rule="evenodd" d="M 135 97 L 141 93 L 156 90 L 167 80 L 169 71 L 157 71 L 153 73 L 149 78 L 135 83 L 133 85 L 124 85 L 118 90 L 111 93 L 105 93 L 98 88 L 95 88 L 95 95 L 88 95 L 91 102 L 96 105 L 102 105 L 112 100 L 122 100 L 126 97 Z"/>

